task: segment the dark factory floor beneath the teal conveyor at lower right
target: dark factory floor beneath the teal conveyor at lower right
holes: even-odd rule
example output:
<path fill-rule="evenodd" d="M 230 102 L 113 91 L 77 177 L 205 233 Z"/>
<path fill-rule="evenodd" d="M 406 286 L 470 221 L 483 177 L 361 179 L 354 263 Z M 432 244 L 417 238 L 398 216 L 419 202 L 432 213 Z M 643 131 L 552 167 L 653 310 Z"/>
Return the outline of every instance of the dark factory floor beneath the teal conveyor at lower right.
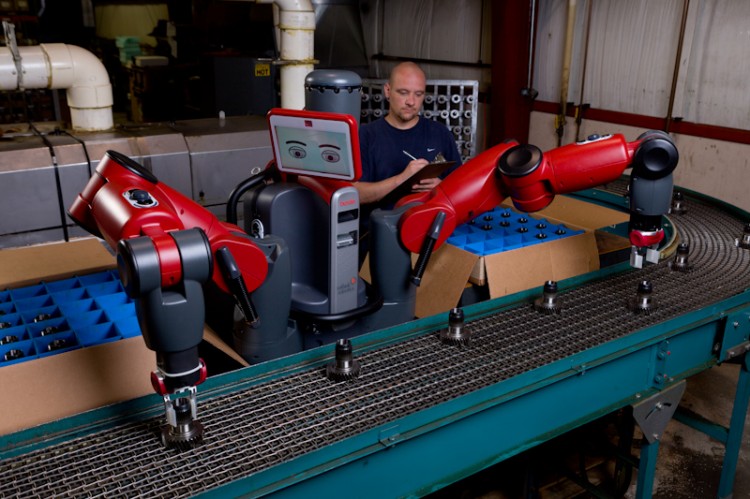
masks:
<path fill-rule="evenodd" d="M 723 364 L 689 378 L 681 407 L 728 426 L 738 373 L 738 365 Z M 629 475 L 626 467 L 615 473 L 612 444 L 620 441 L 622 432 L 617 428 L 623 421 L 631 421 L 629 413 L 602 418 L 436 492 L 430 499 L 635 498 L 638 470 L 632 469 Z M 636 426 L 630 446 L 635 456 L 640 441 Z M 670 421 L 659 445 L 654 499 L 717 497 L 723 456 L 723 444 Z M 576 483 L 580 470 L 606 494 L 596 495 Z M 750 499 L 750 418 L 745 423 L 732 497 Z"/>

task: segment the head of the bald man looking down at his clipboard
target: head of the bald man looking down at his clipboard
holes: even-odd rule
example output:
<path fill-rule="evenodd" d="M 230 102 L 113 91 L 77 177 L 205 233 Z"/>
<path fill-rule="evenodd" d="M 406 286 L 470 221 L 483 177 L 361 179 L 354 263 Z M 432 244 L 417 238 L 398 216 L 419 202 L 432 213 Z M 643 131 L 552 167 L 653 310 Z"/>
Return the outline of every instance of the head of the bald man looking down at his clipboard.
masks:
<path fill-rule="evenodd" d="M 413 62 L 402 62 L 394 67 L 383 86 L 385 98 L 390 103 L 386 120 L 396 128 L 416 125 L 424 102 L 425 86 L 424 72 Z"/>

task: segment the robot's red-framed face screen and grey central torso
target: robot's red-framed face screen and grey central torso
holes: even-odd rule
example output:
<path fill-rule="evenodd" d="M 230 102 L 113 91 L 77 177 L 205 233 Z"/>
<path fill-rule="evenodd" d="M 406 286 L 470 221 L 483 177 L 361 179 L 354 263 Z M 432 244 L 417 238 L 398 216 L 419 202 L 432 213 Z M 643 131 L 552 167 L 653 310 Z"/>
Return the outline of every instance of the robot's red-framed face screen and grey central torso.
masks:
<path fill-rule="evenodd" d="M 351 185 L 362 175 L 357 122 L 349 114 L 274 108 L 268 125 L 276 169 L 295 178 L 273 197 L 271 190 L 258 196 L 256 223 L 282 237 L 296 258 L 310 258 L 296 268 L 327 269 L 293 277 L 292 308 L 318 318 L 357 309 L 364 297 L 358 278 L 359 194 Z M 310 195 L 293 194 L 301 187 Z M 301 216 L 274 224 L 275 210 Z M 310 227 L 314 233 L 308 235 Z"/>

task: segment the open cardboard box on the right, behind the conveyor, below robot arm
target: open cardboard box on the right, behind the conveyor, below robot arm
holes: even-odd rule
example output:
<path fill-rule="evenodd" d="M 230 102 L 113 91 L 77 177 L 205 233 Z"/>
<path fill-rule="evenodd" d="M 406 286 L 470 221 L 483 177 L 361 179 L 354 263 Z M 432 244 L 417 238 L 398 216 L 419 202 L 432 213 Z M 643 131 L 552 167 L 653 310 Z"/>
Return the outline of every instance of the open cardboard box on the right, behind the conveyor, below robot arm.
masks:
<path fill-rule="evenodd" d="M 510 205 L 508 205 L 510 206 Z M 427 266 L 417 289 L 417 317 L 446 312 L 455 307 L 468 283 L 487 285 L 490 298 L 541 287 L 599 268 L 600 250 L 629 247 L 627 239 L 598 229 L 627 222 L 629 215 L 567 196 L 557 196 L 535 218 L 583 230 L 581 234 L 533 246 L 478 256 L 450 244 L 442 245 Z"/>

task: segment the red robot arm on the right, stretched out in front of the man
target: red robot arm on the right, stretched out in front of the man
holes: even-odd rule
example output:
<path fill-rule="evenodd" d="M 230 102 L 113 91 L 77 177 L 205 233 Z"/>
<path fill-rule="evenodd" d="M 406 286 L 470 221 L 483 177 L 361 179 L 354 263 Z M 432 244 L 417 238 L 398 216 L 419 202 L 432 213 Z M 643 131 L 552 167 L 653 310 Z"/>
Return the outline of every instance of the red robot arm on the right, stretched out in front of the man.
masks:
<path fill-rule="evenodd" d="M 677 159 L 671 138 L 662 132 L 647 132 L 633 142 L 621 134 L 591 136 L 545 153 L 533 145 L 500 144 L 466 162 L 429 194 L 404 198 L 401 205 L 420 204 L 401 218 L 401 240 L 411 252 L 424 253 L 427 246 L 439 247 L 457 225 L 506 197 L 519 210 L 534 212 L 557 194 L 614 181 L 632 167 L 632 179 L 641 182 L 633 192 L 631 180 L 631 242 L 651 246 L 663 238 L 659 224 L 671 200 L 671 173 Z M 651 195 L 658 202 L 645 201 Z M 438 213 L 445 218 L 435 234 Z M 431 238 L 434 242 L 429 243 Z"/>

